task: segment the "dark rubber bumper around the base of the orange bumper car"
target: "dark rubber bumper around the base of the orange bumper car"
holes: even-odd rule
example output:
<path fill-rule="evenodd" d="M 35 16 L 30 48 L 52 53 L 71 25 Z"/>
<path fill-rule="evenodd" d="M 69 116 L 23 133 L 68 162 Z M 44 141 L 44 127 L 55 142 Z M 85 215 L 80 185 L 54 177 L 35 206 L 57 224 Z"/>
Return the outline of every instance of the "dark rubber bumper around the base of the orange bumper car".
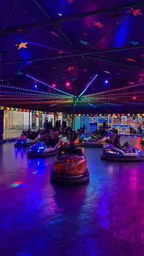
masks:
<path fill-rule="evenodd" d="M 54 170 L 51 170 L 51 181 L 54 181 L 56 183 L 62 183 L 62 184 L 79 184 L 89 181 L 89 172 L 88 169 L 83 175 L 76 175 L 76 176 L 62 176 L 56 174 Z"/>

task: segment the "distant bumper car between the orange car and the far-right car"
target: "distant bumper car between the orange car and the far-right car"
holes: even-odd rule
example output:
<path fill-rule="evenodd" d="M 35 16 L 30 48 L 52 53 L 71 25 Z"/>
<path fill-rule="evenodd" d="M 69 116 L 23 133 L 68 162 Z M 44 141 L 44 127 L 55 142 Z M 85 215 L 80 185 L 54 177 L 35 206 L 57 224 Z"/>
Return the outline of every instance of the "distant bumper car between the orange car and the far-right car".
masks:
<path fill-rule="evenodd" d="M 81 147 L 98 147 L 102 148 L 105 144 L 108 137 L 97 137 L 93 134 L 90 135 L 90 137 L 84 138 L 84 140 L 81 142 Z"/>

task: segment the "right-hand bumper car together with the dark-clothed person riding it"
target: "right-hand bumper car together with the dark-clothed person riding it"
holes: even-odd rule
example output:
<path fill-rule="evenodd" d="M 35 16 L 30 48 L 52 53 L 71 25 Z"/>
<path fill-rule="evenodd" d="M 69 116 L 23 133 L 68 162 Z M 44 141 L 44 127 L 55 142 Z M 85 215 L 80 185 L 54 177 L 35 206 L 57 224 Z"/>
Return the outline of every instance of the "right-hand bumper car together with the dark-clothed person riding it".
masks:
<path fill-rule="evenodd" d="M 113 144 L 104 145 L 101 159 L 106 161 L 144 161 L 144 156 L 139 148 L 133 147 L 129 142 L 120 145 L 120 136 L 117 136 Z"/>

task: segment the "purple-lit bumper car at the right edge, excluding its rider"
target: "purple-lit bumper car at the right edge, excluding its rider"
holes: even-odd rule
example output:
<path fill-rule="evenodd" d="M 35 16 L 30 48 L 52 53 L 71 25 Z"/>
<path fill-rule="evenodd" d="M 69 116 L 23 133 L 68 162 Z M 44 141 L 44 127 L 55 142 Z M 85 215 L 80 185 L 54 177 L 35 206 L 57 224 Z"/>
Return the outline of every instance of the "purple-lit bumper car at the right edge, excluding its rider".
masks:
<path fill-rule="evenodd" d="M 128 142 L 123 144 L 123 147 L 127 147 Z M 131 145 L 129 145 L 131 147 Z M 116 148 L 113 144 L 106 144 L 103 147 L 103 155 L 101 159 L 106 161 L 144 161 L 144 156 L 139 148 L 133 148 L 132 153 L 126 153 L 120 148 Z"/>

